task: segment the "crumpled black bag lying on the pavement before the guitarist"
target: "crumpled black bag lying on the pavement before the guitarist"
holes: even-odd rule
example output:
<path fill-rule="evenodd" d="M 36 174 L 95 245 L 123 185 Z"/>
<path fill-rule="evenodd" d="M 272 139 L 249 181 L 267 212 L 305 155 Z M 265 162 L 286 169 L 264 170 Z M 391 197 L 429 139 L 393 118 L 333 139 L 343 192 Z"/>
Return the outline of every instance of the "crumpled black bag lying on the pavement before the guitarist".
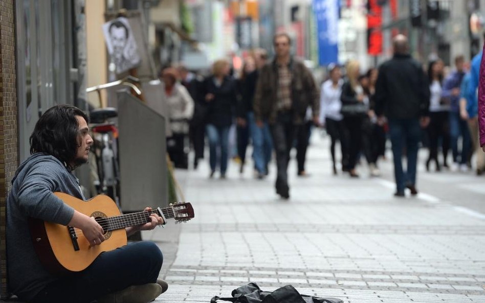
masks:
<path fill-rule="evenodd" d="M 286 285 L 277 290 L 262 291 L 256 283 L 249 283 L 234 289 L 232 297 L 214 296 L 210 302 L 217 303 L 218 300 L 230 301 L 233 303 L 343 303 L 337 298 L 322 298 L 309 295 L 301 295 L 293 286 Z"/>

